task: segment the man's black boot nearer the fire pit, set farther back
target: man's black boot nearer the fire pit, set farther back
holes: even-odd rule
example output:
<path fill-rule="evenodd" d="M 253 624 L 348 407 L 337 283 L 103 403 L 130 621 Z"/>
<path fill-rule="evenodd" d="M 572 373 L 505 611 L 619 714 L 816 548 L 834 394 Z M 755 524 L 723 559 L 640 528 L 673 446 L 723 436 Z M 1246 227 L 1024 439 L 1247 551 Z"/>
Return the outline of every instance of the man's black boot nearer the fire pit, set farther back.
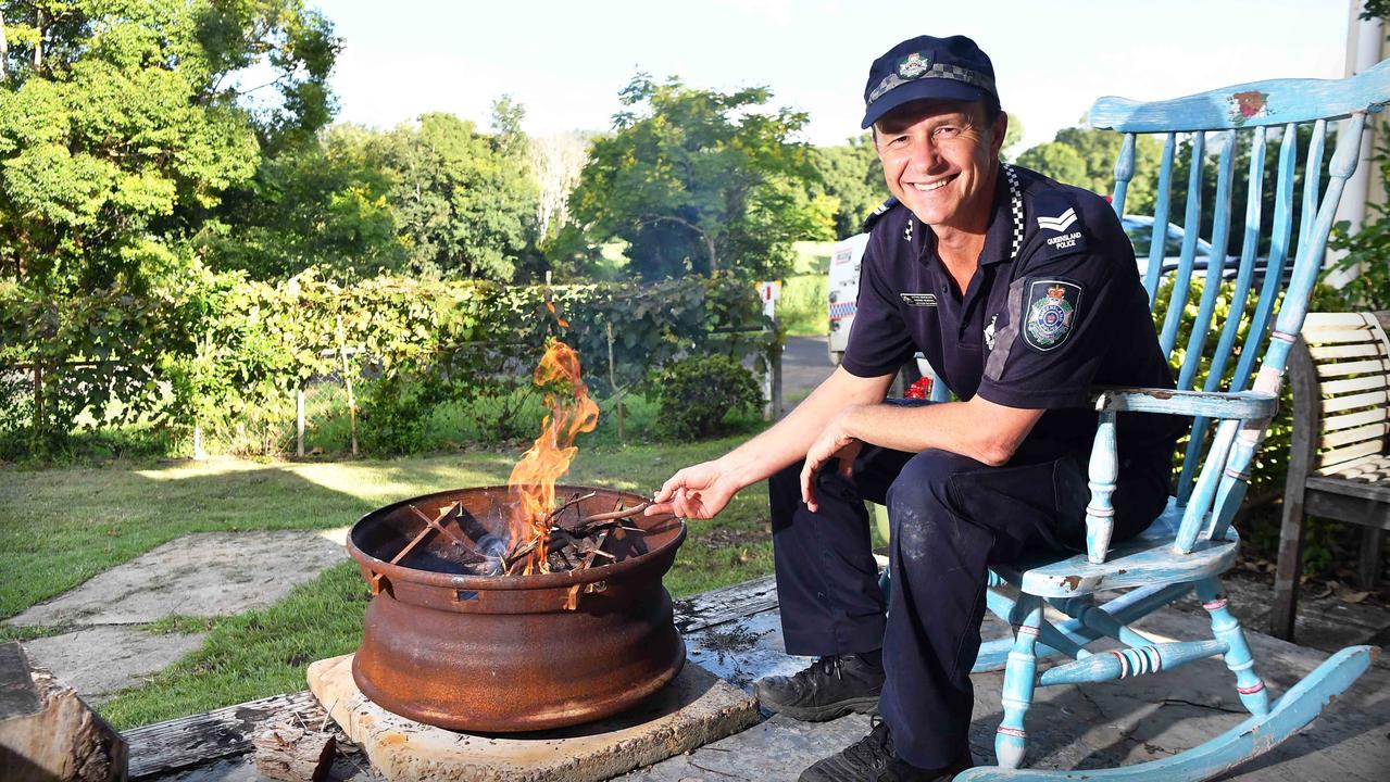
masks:
<path fill-rule="evenodd" d="M 878 708 L 883 665 L 859 654 L 821 657 L 794 676 L 767 676 L 753 688 L 758 701 L 769 711 L 794 719 L 823 722 Z"/>

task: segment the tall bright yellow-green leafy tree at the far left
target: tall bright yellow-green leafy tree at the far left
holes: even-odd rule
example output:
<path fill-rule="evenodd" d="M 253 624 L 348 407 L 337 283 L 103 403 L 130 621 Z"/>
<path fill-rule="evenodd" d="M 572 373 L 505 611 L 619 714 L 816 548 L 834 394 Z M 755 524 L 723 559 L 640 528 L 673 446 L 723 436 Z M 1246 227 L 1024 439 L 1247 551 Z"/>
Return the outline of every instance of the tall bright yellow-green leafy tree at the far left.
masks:
<path fill-rule="evenodd" d="M 302 0 L 0 0 L 0 353 L 33 435 L 164 403 L 207 276 L 186 238 L 261 146 L 331 114 L 332 25 Z M 243 89 L 249 68 L 271 74 Z M 274 88 L 274 100 L 261 90 Z"/>

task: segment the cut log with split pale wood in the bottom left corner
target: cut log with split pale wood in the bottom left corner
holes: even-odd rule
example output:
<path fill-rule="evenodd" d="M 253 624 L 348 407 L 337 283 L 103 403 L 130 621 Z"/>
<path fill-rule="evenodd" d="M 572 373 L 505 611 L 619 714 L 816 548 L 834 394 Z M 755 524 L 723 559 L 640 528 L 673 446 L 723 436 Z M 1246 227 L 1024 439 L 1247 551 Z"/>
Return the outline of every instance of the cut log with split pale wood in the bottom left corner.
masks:
<path fill-rule="evenodd" d="M 125 740 L 18 643 L 0 644 L 0 769 L 7 782 L 126 779 Z"/>

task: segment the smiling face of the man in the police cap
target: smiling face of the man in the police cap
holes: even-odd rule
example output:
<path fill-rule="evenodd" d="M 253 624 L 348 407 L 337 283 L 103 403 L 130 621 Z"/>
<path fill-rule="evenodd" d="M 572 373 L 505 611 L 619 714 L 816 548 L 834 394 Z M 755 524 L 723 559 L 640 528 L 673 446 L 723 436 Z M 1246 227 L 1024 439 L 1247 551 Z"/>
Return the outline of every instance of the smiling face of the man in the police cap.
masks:
<path fill-rule="evenodd" d="M 888 190 L 934 229 L 984 233 L 1008 117 L 979 103 L 919 100 L 874 124 Z M 940 235 L 940 231 L 938 231 Z"/>

